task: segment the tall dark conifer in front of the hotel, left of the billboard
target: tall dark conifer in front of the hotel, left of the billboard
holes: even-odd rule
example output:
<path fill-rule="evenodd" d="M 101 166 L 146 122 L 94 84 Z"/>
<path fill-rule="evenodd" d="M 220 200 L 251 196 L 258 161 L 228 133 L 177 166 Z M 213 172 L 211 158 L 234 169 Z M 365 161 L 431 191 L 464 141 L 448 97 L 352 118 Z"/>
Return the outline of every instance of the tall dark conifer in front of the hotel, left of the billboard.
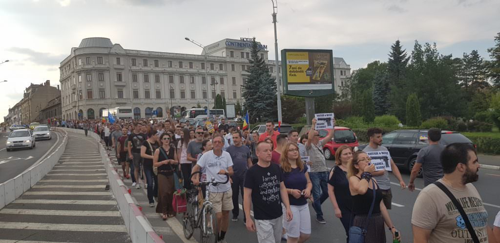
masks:
<path fill-rule="evenodd" d="M 243 97 L 248 110 L 249 119 L 255 121 L 273 119 L 276 116 L 276 82 L 271 77 L 267 63 L 260 58 L 258 43 L 253 37 L 251 42 L 250 68 L 244 84 Z"/>

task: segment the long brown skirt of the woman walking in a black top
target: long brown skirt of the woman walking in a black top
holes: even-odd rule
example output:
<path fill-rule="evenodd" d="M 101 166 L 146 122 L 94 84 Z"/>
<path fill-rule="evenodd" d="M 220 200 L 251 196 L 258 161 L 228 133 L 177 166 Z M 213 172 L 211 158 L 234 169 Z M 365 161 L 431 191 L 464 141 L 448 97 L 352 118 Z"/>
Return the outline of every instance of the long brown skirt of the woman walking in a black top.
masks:
<path fill-rule="evenodd" d="M 163 175 L 158 173 L 158 204 L 156 205 L 156 212 L 162 214 L 173 214 L 172 200 L 173 191 L 175 190 L 173 184 L 173 175 Z"/>

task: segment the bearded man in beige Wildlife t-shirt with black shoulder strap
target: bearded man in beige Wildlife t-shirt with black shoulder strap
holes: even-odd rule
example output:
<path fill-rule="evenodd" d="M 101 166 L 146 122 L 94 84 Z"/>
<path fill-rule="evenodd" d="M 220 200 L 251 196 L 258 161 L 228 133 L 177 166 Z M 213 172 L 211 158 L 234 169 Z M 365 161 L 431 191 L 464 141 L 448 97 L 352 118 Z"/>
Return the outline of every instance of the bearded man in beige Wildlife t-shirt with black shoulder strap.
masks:
<path fill-rule="evenodd" d="M 441 153 L 441 164 L 444 176 L 423 188 L 415 200 L 411 215 L 413 242 L 488 242 L 488 213 L 471 184 L 479 177 L 474 149 L 466 143 L 451 143 Z M 436 185 L 439 183 L 459 201 L 478 241 L 473 241 L 460 212 Z"/>

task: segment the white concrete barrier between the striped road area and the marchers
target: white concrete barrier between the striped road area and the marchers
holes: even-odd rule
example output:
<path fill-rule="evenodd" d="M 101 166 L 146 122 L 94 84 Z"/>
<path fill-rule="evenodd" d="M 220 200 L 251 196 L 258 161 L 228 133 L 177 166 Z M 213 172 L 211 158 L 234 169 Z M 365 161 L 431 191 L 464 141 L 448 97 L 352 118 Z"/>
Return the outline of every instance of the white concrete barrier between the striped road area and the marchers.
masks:
<path fill-rule="evenodd" d="M 81 129 L 62 128 L 62 130 L 84 134 L 84 131 Z M 112 161 L 109 159 L 108 151 L 104 149 L 104 145 L 100 142 L 99 135 L 92 131 L 88 131 L 88 134 L 91 137 L 95 138 L 97 141 L 97 149 L 99 149 L 100 151 L 102 162 L 104 163 L 104 167 L 106 168 L 109 187 L 111 188 L 114 197 L 118 202 L 118 208 L 120 210 L 121 217 L 123 218 L 123 221 L 125 221 L 125 227 L 130 234 L 130 239 L 132 240 L 132 242 L 164 242 L 161 237 L 159 237 L 158 234 L 154 232 L 153 228 L 149 224 L 149 221 L 147 221 L 146 217 L 141 212 L 139 207 L 137 207 L 137 205 L 135 205 L 135 203 L 133 202 L 133 199 L 129 194 L 128 187 L 126 187 L 126 185 L 123 183 L 122 177 L 116 172 Z"/>

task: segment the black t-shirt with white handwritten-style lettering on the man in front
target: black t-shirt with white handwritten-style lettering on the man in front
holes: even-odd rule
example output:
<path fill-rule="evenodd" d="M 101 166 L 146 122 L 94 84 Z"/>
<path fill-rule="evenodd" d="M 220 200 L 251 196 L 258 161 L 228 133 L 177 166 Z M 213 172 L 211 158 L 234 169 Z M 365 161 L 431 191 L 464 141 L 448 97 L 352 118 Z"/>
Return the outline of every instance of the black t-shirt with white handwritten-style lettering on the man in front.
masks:
<path fill-rule="evenodd" d="M 283 214 L 279 188 L 283 177 L 282 170 L 275 163 L 270 163 L 267 167 L 256 163 L 246 171 L 244 187 L 252 189 L 251 200 L 255 219 L 269 220 Z"/>

